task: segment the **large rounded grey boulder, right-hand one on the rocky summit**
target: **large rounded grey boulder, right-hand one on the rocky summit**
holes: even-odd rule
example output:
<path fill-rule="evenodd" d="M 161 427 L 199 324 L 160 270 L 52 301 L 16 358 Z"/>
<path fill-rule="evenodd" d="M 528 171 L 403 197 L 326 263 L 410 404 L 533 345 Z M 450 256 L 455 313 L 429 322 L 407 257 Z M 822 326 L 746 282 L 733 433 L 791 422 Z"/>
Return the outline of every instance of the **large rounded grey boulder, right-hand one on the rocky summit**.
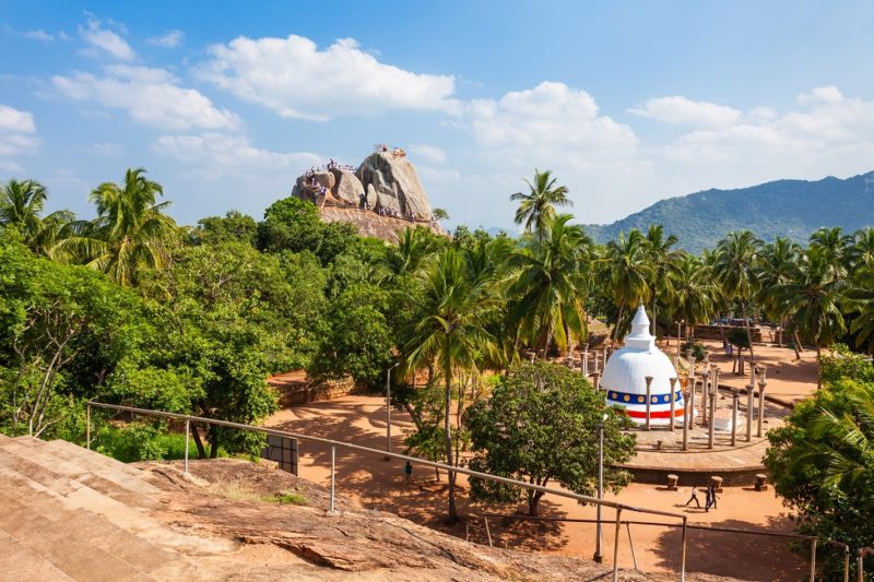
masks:
<path fill-rule="evenodd" d="M 373 153 L 362 162 L 355 175 L 368 194 L 370 188 L 376 192 L 376 210 L 395 211 L 408 219 L 432 219 L 428 195 L 416 169 L 405 156 L 391 152 Z"/>

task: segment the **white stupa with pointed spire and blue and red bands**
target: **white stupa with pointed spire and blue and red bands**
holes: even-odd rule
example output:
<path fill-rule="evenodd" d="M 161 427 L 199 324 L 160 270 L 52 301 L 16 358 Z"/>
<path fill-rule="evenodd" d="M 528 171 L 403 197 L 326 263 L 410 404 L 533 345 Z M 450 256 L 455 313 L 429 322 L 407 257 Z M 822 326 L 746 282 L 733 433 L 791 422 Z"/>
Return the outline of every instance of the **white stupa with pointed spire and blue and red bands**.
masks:
<path fill-rule="evenodd" d="M 641 305 L 631 321 L 631 333 L 625 337 L 625 347 L 617 349 L 604 366 L 601 389 L 607 393 L 607 404 L 623 406 L 637 424 L 647 419 L 647 380 L 650 385 L 650 425 L 668 425 L 671 418 L 671 397 L 674 399 L 674 417 L 683 421 L 683 391 L 677 381 L 671 394 L 671 378 L 677 378 L 671 359 L 656 347 L 656 337 L 649 333 L 649 318 Z"/>

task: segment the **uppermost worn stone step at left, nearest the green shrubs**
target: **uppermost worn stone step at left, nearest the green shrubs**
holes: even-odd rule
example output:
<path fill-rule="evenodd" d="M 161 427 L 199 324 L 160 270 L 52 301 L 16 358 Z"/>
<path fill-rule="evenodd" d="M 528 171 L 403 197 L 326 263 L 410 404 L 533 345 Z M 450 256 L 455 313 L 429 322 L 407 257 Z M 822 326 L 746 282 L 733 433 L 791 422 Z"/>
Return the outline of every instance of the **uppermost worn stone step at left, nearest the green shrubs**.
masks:
<path fill-rule="evenodd" d="M 156 499 L 149 497 L 147 495 L 133 491 L 130 488 L 126 488 L 123 485 L 117 483 L 126 479 L 137 483 L 135 479 L 115 475 L 109 471 L 102 470 L 103 473 L 109 477 L 104 478 L 101 473 L 95 474 L 90 472 L 86 467 L 81 466 L 79 461 L 64 458 L 61 453 L 58 453 L 54 449 L 46 447 L 46 443 L 42 441 L 37 442 L 39 442 L 38 446 L 34 446 L 33 443 L 25 444 L 19 439 L 13 439 L 11 441 L 0 442 L 0 451 L 17 456 L 19 461 L 16 462 L 15 466 L 19 467 L 25 475 L 29 475 L 31 472 L 35 472 L 37 475 L 50 475 L 56 480 L 61 477 L 66 477 L 68 479 L 86 485 L 95 491 L 98 491 L 127 506 L 139 508 L 158 507 L 160 502 Z M 37 465 L 45 471 L 40 471 L 32 465 Z"/>

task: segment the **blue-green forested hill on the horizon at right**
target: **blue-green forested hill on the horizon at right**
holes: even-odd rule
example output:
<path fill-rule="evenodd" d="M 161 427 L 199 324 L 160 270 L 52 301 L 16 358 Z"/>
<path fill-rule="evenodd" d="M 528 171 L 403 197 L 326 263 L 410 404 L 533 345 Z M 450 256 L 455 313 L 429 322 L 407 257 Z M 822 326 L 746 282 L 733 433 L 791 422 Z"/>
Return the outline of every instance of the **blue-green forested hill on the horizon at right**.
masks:
<path fill-rule="evenodd" d="M 822 226 L 852 233 L 874 225 L 874 171 L 841 180 L 778 180 L 737 190 L 706 190 L 662 200 L 609 225 L 586 225 L 599 242 L 631 228 L 662 224 L 692 252 L 712 248 L 731 230 L 748 228 L 759 238 L 806 241 Z"/>

